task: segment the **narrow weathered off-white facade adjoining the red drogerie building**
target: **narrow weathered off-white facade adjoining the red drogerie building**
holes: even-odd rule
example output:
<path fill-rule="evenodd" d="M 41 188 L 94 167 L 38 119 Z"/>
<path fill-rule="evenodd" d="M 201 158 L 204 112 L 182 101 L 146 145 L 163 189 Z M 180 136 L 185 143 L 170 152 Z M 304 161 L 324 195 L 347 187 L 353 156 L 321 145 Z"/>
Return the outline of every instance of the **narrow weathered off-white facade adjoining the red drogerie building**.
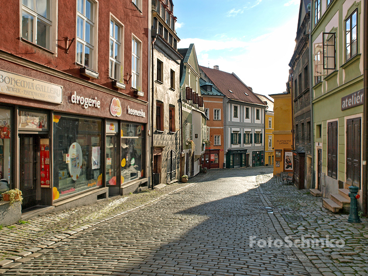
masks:
<path fill-rule="evenodd" d="M 173 183 L 180 177 L 180 61 L 171 1 L 152 4 L 153 45 L 153 182 Z M 169 16 L 169 18 L 165 18 Z M 167 20 L 165 20 L 167 19 Z M 165 36 L 167 36 L 165 38 Z M 170 39 L 169 39 L 170 37 Z"/>

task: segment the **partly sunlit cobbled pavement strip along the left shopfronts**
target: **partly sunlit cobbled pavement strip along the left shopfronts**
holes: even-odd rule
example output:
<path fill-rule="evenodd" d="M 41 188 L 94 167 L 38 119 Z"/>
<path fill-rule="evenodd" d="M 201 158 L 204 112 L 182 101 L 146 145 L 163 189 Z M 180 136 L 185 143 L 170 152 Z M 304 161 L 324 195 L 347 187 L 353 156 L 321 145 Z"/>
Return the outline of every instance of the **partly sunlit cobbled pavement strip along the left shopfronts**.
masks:
<path fill-rule="evenodd" d="M 208 176 L 201 174 L 192 178 L 190 183 L 177 182 L 160 190 L 146 190 L 127 197 L 118 196 L 92 205 L 44 214 L 30 219 L 25 224 L 3 227 L 0 231 L 0 267 L 6 266 L 6 269 L 0 269 L 0 273 L 40 256 L 81 231 L 144 208 L 206 178 Z"/>

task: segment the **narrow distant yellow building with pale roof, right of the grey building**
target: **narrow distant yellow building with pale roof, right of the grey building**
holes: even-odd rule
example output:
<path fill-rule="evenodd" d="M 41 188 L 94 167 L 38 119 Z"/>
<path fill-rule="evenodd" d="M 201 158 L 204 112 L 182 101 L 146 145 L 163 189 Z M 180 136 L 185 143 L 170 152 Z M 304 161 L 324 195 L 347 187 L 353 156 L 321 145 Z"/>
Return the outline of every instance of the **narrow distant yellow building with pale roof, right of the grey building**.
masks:
<path fill-rule="evenodd" d="M 268 99 L 264 95 L 256 94 L 262 102 L 267 103 L 265 110 L 265 166 L 273 166 L 274 164 L 274 139 L 273 139 L 273 125 L 274 125 L 274 112 L 273 101 Z"/>

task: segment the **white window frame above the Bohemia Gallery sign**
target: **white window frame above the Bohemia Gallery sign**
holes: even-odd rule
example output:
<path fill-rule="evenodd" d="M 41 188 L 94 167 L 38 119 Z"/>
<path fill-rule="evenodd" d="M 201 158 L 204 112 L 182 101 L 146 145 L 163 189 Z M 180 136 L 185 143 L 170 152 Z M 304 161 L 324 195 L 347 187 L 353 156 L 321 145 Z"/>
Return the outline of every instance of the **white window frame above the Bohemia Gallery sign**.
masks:
<path fill-rule="evenodd" d="M 35 4 L 35 0 L 30 0 L 34 3 L 34 7 L 36 6 Z M 38 45 L 38 47 L 41 47 L 42 49 L 46 49 L 49 50 L 53 53 L 57 52 L 57 43 L 54 43 L 57 40 L 56 37 L 56 33 L 57 33 L 57 20 L 58 20 L 58 16 L 57 16 L 57 7 L 58 7 L 58 1 L 57 0 L 49 0 L 49 13 L 50 16 L 49 18 L 44 18 L 42 15 L 38 14 L 36 11 L 36 8 L 34 8 L 33 10 L 28 8 L 27 6 L 22 4 L 22 0 L 20 0 L 20 28 L 19 28 L 19 37 L 21 37 L 22 39 L 24 39 L 25 41 L 29 41 L 31 43 L 34 43 L 36 45 Z M 26 13 L 28 15 L 31 15 L 34 17 L 33 19 L 33 24 L 32 24 L 32 29 L 33 29 L 33 35 L 32 35 L 32 39 L 27 39 L 25 37 L 22 36 L 22 14 Z M 46 41 L 46 47 L 43 47 L 39 44 L 37 44 L 37 19 L 39 19 L 40 21 L 43 22 L 43 24 L 49 26 L 49 31 L 47 34 L 47 41 Z"/>

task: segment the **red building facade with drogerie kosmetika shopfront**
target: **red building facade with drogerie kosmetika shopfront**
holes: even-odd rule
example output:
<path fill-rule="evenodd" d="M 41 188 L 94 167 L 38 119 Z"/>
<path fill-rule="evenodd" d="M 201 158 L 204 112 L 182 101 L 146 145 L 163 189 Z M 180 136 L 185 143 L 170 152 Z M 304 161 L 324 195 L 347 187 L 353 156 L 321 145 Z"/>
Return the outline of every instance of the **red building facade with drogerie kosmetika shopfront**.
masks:
<path fill-rule="evenodd" d="M 149 1 L 11 2 L 0 15 L 0 192 L 20 189 L 27 212 L 147 186 Z"/>

